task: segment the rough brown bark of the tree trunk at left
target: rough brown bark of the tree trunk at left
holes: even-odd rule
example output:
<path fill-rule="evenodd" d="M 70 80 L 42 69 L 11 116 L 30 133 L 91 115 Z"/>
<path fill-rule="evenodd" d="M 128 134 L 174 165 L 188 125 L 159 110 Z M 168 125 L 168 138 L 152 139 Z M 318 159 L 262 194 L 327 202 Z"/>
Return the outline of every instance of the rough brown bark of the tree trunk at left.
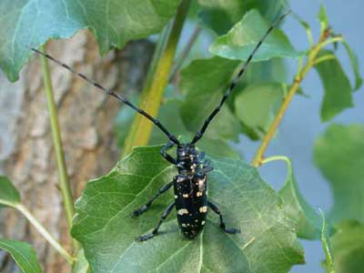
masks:
<path fill-rule="evenodd" d="M 48 52 L 57 59 L 124 94 L 140 89 L 152 49 L 147 42 L 131 43 L 100 58 L 94 39 L 86 31 L 48 46 Z M 50 67 L 76 199 L 87 180 L 106 174 L 116 164 L 119 151 L 113 126 L 120 104 L 63 67 L 51 63 Z M 11 85 L 1 76 L 0 108 L 0 173 L 11 177 L 25 206 L 70 249 L 38 56 L 25 67 L 19 82 Z M 10 209 L 0 213 L 0 236 L 32 243 L 45 272 L 70 271 L 24 217 Z M 18 272 L 4 252 L 0 252 L 0 272 Z"/>

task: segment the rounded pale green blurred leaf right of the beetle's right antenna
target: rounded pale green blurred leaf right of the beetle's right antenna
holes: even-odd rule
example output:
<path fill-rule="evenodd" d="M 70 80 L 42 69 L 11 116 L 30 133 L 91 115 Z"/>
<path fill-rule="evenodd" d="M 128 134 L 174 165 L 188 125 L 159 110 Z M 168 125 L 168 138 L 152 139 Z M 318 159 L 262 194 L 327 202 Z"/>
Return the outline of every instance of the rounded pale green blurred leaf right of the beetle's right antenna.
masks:
<path fill-rule="evenodd" d="M 286 88 L 278 83 L 248 86 L 236 96 L 236 115 L 256 135 L 264 136 L 282 104 Z"/>

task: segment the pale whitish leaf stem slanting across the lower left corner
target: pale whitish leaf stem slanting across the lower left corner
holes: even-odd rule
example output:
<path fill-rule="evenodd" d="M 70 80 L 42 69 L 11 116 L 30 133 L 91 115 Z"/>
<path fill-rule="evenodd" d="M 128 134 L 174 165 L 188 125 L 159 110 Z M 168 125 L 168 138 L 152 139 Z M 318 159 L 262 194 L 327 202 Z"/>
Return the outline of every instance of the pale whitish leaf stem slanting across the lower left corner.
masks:
<path fill-rule="evenodd" d="M 13 207 L 13 206 L 12 206 Z M 63 248 L 56 239 L 45 229 L 45 227 L 42 226 L 42 224 L 32 215 L 32 213 L 26 209 L 22 204 L 16 204 L 15 208 L 19 210 L 28 220 L 29 222 L 35 227 L 35 229 L 48 241 L 48 243 L 56 249 L 56 251 L 59 252 L 64 258 L 66 258 L 66 261 L 73 265 L 76 261 L 75 258 L 73 258 L 65 248 Z"/>

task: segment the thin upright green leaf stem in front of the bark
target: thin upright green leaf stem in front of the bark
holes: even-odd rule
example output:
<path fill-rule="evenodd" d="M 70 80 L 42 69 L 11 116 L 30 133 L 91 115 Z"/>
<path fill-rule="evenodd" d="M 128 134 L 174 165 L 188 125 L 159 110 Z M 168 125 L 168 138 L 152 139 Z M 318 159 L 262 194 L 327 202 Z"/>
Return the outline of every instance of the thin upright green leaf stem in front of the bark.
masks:
<path fill-rule="evenodd" d="M 41 47 L 41 50 L 45 53 L 45 45 Z M 66 210 L 66 219 L 68 227 L 72 227 L 72 218 L 75 214 L 75 208 L 72 197 L 72 191 L 67 175 L 65 153 L 62 145 L 53 86 L 52 86 L 51 76 L 49 73 L 48 61 L 45 58 L 45 56 L 41 56 L 41 60 L 42 60 L 42 69 L 43 69 L 43 77 L 45 85 L 46 103 L 48 106 L 51 129 L 52 129 L 53 145 L 55 147 L 55 153 L 56 153 L 56 166 L 58 169 L 59 188 L 61 190 L 61 194 L 63 197 L 63 203 Z M 76 247 L 75 241 L 74 245 Z"/>

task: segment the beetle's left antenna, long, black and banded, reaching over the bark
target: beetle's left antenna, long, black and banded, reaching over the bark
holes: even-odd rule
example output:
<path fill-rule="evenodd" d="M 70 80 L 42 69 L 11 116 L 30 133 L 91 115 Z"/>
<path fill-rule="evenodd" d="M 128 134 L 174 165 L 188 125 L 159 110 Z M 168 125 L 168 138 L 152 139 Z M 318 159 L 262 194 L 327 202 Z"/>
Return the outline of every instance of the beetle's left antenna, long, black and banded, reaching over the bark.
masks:
<path fill-rule="evenodd" d="M 41 52 L 41 51 L 39 51 L 39 50 L 37 50 L 35 48 L 32 48 L 32 50 L 35 53 L 37 53 L 37 54 L 39 54 L 41 56 L 45 56 L 46 58 L 50 59 L 51 61 L 55 62 L 57 65 L 65 67 L 68 71 L 72 72 L 73 74 L 76 74 L 76 76 L 82 77 L 84 80 L 86 80 L 86 82 L 88 82 L 91 85 L 95 86 L 96 88 L 102 90 L 107 95 L 114 96 L 117 100 L 125 103 L 126 106 L 129 106 L 129 107 L 133 108 L 140 115 L 147 117 L 147 119 L 149 119 L 151 122 L 153 122 L 169 138 L 170 141 L 172 141 L 174 144 L 179 145 L 179 141 L 178 141 L 177 137 L 172 135 L 167 130 L 167 128 L 160 123 L 160 121 L 157 118 L 155 118 L 153 116 L 150 116 L 143 109 L 133 105 L 125 96 L 118 95 L 114 91 L 112 91 L 112 90 L 110 90 L 110 89 L 108 89 L 108 88 L 106 88 L 104 86 L 101 86 L 100 84 L 96 83 L 96 81 L 90 79 L 89 77 L 85 76 L 84 74 L 78 73 L 74 68 L 72 68 L 70 66 L 67 66 L 66 64 L 56 60 L 53 56 L 45 54 L 45 53 L 43 53 L 43 52 Z"/>

